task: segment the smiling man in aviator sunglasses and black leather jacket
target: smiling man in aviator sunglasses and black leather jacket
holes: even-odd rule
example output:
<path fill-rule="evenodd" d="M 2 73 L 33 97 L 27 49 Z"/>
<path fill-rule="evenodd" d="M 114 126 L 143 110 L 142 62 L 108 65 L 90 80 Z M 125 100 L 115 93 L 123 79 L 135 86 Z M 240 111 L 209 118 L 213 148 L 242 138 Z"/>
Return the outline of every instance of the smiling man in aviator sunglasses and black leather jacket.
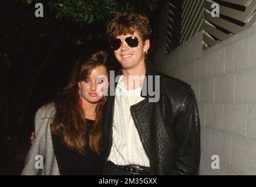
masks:
<path fill-rule="evenodd" d="M 114 88 L 110 82 L 115 96 L 103 106 L 103 174 L 198 174 L 200 122 L 194 92 L 185 82 L 147 67 L 149 20 L 139 13 L 120 13 L 107 34 L 122 70 Z M 139 84 L 130 79 L 136 76 Z M 150 102 L 152 86 L 158 98 Z"/>

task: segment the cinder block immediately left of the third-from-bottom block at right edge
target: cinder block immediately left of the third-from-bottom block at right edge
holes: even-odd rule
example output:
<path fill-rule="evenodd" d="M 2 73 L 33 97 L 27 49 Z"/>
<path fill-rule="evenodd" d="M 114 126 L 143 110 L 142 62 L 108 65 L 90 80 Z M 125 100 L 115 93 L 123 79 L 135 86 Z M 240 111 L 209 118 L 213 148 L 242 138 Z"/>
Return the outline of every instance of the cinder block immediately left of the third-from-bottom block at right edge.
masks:
<path fill-rule="evenodd" d="M 215 101 L 234 102 L 235 75 L 219 75 L 215 78 Z"/>

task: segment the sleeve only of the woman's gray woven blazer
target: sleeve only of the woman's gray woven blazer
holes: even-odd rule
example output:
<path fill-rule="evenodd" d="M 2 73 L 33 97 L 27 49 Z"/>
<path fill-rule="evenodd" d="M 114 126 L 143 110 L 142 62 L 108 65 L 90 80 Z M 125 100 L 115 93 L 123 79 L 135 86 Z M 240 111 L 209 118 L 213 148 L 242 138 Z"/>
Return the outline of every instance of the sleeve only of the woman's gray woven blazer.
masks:
<path fill-rule="evenodd" d="M 39 160 L 43 158 L 43 167 L 45 163 L 46 150 L 46 130 L 48 124 L 47 106 L 43 106 L 36 112 L 35 116 L 35 140 L 33 141 L 29 152 L 26 155 L 25 166 L 21 175 L 41 175 L 43 169 L 36 167 Z"/>

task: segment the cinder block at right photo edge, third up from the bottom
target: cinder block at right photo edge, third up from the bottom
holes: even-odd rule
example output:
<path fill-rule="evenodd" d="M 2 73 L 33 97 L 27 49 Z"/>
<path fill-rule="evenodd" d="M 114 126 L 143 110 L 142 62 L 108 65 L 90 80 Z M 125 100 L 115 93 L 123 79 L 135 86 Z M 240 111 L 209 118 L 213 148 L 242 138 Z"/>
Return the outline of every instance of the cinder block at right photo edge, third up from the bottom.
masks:
<path fill-rule="evenodd" d="M 235 75 L 235 102 L 256 103 L 256 69 Z"/>

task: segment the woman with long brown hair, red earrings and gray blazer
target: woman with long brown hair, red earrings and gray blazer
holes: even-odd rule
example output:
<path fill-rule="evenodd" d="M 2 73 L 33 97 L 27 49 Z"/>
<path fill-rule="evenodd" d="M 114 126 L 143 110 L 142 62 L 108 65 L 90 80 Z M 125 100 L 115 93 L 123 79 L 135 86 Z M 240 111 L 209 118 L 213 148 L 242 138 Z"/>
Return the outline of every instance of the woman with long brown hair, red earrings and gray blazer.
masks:
<path fill-rule="evenodd" d="M 103 93 L 109 85 L 104 51 L 87 51 L 69 84 L 53 103 L 38 110 L 35 140 L 22 175 L 97 175 L 102 173 Z"/>

